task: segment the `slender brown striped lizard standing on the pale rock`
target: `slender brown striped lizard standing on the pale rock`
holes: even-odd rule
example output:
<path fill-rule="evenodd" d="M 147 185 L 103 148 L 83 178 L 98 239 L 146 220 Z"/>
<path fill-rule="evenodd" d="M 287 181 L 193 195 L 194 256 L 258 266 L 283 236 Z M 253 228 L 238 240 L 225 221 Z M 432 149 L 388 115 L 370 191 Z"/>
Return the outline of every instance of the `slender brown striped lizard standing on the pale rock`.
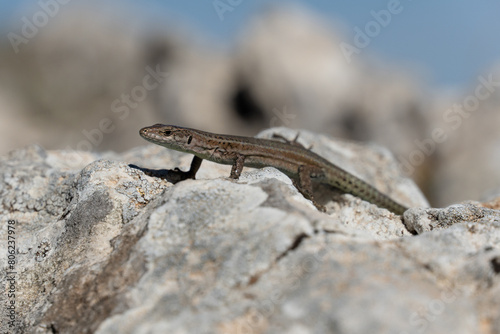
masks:
<path fill-rule="evenodd" d="M 367 182 L 334 165 L 293 141 L 223 135 L 175 125 L 155 124 L 139 131 L 142 138 L 169 149 L 194 154 L 189 171 L 181 179 L 195 179 L 203 159 L 231 165 L 230 178 L 238 179 L 244 166 L 274 167 L 294 182 L 297 189 L 321 211 L 315 202 L 313 182 L 324 183 L 350 193 L 379 207 L 402 215 L 408 208 L 391 199 Z"/>

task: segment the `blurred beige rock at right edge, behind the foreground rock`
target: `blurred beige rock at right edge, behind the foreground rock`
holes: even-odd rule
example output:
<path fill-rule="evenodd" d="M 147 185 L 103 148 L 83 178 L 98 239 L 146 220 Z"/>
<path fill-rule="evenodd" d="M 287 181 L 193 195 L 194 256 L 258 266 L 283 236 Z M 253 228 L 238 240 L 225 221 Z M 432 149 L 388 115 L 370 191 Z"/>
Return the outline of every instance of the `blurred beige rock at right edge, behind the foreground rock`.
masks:
<path fill-rule="evenodd" d="M 435 110 L 431 124 L 446 134 L 429 180 L 436 205 L 500 196 L 499 82 L 500 63 Z"/>

